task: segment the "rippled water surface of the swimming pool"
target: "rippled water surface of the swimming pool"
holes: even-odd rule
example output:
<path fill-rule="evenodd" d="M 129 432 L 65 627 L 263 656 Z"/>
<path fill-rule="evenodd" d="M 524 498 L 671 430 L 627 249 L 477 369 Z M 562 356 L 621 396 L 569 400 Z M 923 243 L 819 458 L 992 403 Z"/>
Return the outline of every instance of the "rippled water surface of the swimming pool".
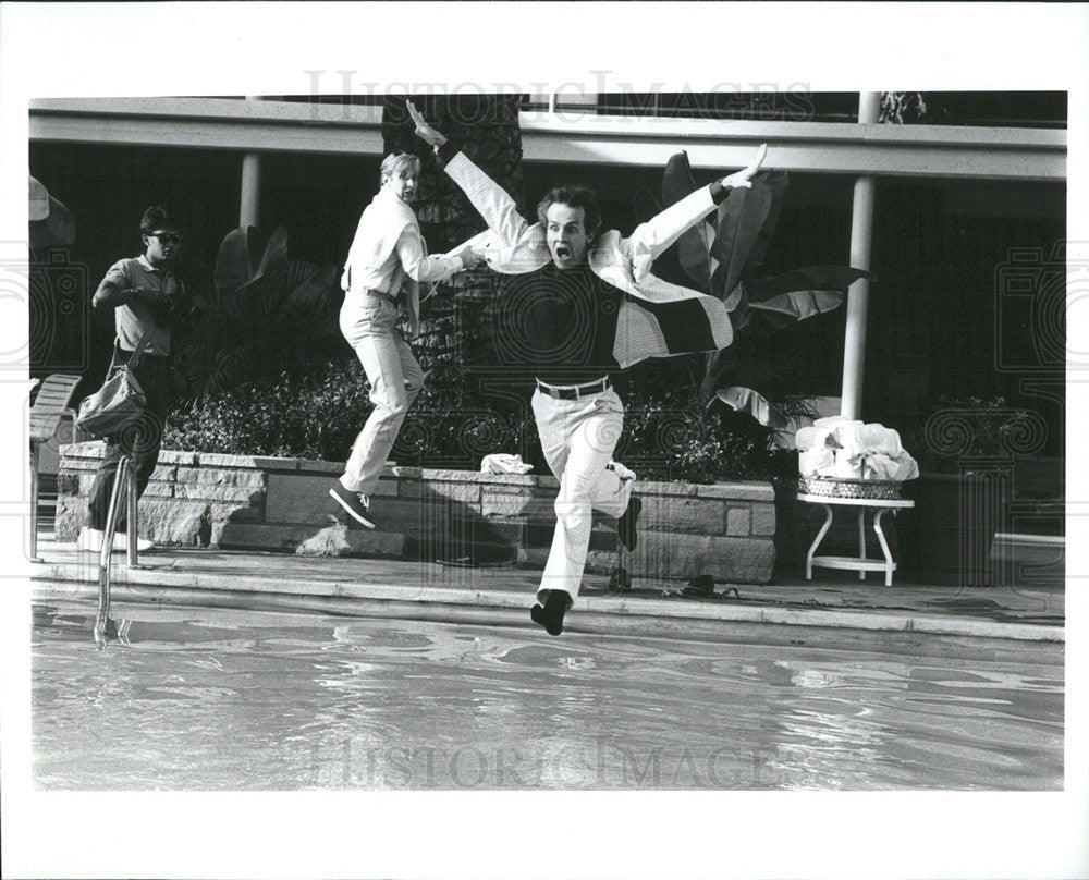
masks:
<path fill-rule="evenodd" d="M 40 789 L 1062 787 L 1055 665 L 124 613 L 35 609 Z"/>

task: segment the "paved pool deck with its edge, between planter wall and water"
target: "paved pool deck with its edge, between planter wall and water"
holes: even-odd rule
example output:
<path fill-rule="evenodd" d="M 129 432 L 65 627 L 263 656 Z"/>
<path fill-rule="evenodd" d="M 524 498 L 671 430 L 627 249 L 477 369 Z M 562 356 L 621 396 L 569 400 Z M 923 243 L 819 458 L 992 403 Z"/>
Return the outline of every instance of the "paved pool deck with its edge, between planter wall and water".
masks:
<path fill-rule="evenodd" d="M 98 555 L 42 537 L 41 562 L 30 565 L 35 597 L 95 599 Z M 528 610 L 540 577 L 514 566 L 183 548 L 156 548 L 134 569 L 125 565 L 122 552 L 113 560 L 115 607 L 171 602 L 527 627 L 534 626 Z M 993 649 L 1003 652 L 1042 650 L 1054 657 L 1063 650 L 1062 589 L 896 580 L 886 587 L 872 573 L 866 580 L 825 571 L 815 571 L 813 577 L 762 586 L 717 584 L 713 597 L 692 597 L 682 595 L 683 582 L 639 578 L 629 591 L 613 594 L 608 577 L 588 574 L 564 632 L 905 650 L 917 649 L 925 636 L 945 655 L 978 639 L 993 639 Z"/>

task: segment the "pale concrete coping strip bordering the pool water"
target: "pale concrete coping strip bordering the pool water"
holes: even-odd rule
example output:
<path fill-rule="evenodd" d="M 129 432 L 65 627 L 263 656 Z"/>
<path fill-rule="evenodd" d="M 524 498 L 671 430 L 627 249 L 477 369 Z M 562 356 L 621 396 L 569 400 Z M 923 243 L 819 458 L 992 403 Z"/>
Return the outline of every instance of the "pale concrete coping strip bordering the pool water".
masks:
<path fill-rule="evenodd" d="M 170 602 L 533 627 L 528 621 L 531 594 L 316 578 L 290 573 L 289 567 L 255 575 L 179 571 L 171 565 L 122 565 L 114 574 L 112 597 L 117 603 Z M 97 566 L 86 561 L 47 561 L 35 566 L 33 580 L 36 598 L 86 600 L 97 596 Z M 913 651 L 918 651 L 919 643 L 926 639 L 932 651 L 942 655 L 1024 652 L 1039 661 L 1061 658 L 1065 647 L 1065 630 L 1060 625 L 910 610 L 752 607 L 720 599 L 632 595 L 582 598 L 565 631 L 840 648 L 879 645 L 885 650 Z"/>

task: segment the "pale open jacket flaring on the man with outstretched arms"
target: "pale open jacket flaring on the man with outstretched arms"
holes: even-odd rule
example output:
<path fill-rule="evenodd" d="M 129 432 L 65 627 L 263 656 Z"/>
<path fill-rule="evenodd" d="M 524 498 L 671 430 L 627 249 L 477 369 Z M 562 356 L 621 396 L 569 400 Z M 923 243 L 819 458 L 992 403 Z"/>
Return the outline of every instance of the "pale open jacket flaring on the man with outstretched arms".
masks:
<path fill-rule="evenodd" d="M 505 274 L 531 272 L 552 259 L 543 227 L 530 225 L 506 191 L 464 152 L 451 158 L 445 171 L 488 223 L 485 232 L 451 254 L 466 244 L 480 248 L 488 265 Z M 654 259 L 714 208 L 710 190 L 705 186 L 641 223 L 628 237 L 610 230 L 599 235 L 590 248 L 590 270 L 628 294 L 617 316 L 613 346 L 622 368 L 648 357 L 718 351 L 733 341 L 730 316 L 721 300 L 650 273 Z"/>

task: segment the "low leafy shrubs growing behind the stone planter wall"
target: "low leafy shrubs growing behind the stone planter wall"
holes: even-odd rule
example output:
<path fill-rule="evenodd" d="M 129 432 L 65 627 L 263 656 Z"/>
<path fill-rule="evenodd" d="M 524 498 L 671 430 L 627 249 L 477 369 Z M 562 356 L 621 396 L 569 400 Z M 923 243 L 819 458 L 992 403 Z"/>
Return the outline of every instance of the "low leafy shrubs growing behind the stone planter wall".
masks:
<path fill-rule="evenodd" d="M 796 461 L 770 449 L 771 429 L 719 403 L 703 407 L 684 384 L 686 366 L 672 364 L 639 390 L 626 392 L 617 461 L 640 479 L 712 482 L 790 478 Z M 648 379 L 650 374 L 648 372 Z M 648 387 L 649 386 L 649 387 Z M 677 390 L 683 389 L 683 390 Z M 309 375 L 283 374 L 208 395 L 167 426 L 168 448 L 236 455 L 344 461 L 374 408 L 355 360 Z M 476 469 L 493 452 L 518 453 L 547 474 L 537 427 L 511 396 L 425 384 L 402 427 L 392 457 L 403 465 Z"/>

